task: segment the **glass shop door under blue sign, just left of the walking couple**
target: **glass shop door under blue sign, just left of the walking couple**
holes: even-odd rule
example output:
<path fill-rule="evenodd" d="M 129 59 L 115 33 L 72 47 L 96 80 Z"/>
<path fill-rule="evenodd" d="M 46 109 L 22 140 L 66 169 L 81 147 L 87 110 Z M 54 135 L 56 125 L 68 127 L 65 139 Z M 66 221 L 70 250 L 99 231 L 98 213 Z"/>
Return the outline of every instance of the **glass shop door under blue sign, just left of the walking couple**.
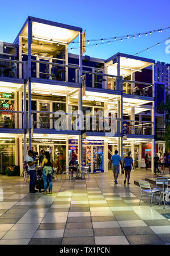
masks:
<path fill-rule="evenodd" d="M 104 172 L 104 146 L 93 147 L 93 172 Z"/>

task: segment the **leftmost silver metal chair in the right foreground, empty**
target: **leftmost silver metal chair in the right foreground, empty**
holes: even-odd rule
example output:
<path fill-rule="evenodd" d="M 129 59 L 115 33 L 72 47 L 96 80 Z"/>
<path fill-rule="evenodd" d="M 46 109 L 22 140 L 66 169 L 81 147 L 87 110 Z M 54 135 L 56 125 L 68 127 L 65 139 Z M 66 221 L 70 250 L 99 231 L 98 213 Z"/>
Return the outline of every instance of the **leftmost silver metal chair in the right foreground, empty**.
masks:
<path fill-rule="evenodd" d="M 152 207 L 152 201 L 153 201 L 154 195 L 156 195 L 156 193 L 157 193 L 160 196 L 160 190 L 158 188 L 152 189 L 150 183 L 146 180 L 140 180 L 139 185 L 140 185 L 140 188 L 142 191 L 141 197 L 139 200 L 139 205 L 141 203 L 142 196 L 149 196 L 150 197 L 150 207 Z M 159 204 L 160 204 L 160 202 L 159 202 Z"/>

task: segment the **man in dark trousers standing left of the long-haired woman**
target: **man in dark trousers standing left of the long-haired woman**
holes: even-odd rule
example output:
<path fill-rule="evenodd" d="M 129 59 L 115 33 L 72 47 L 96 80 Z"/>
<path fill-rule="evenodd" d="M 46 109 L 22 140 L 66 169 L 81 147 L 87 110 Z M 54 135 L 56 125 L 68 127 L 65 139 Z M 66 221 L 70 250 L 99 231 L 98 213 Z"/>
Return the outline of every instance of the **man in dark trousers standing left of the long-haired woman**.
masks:
<path fill-rule="evenodd" d="M 28 164 L 28 173 L 30 176 L 29 181 L 29 193 L 35 193 L 37 190 L 35 190 L 35 179 L 36 179 L 36 164 L 37 159 L 34 161 L 33 158 L 33 151 L 29 150 L 27 155 L 27 164 Z"/>

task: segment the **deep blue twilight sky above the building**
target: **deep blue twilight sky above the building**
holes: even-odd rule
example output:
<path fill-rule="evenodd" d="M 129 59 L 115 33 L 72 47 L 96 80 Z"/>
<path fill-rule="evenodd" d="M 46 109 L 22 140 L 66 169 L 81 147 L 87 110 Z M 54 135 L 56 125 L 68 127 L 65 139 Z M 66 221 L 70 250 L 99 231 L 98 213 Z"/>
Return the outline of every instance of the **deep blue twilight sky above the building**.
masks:
<path fill-rule="evenodd" d="M 86 30 L 86 39 L 90 40 L 170 27 L 169 10 L 169 0 L 1 1 L 0 40 L 14 42 L 28 15 L 82 27 Z M 170 38 L 170 29 L 122 42 L 87 47 L 85 54 L 101 59 L 108 59 L 116 52 L 134 55 L 167 38 Z M 75 46 L 72 44 L 71 47 Z M 166 47 L 169 53 L 165 52 Z M 76 53 L 76 50 L 70 52 Z M 170 40 L 167 45 L 164 42 L 139 56 L 170 63 Z"/>

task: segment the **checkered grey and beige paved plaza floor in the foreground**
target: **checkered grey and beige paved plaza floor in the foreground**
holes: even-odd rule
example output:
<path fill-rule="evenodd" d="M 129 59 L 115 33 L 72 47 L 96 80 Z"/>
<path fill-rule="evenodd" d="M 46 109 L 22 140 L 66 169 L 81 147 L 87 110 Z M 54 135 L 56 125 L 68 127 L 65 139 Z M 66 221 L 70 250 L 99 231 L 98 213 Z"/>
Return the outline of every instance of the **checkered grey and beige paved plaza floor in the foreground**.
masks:
<path fill-rule="evenodd" d="M 90 180 L 53 182 L 53 194 L 29 194 L 23 177 L 0 176 L 0 245 L 163 245 L 170 244 L 170 207 L 150 208 L 148 197 L 138 206 L 141 189 L 134 180 L 154 177 L 131 172 L 114 184 L 112 172 Z M 167 218 L 169 213 L 169 218 Z"/>

